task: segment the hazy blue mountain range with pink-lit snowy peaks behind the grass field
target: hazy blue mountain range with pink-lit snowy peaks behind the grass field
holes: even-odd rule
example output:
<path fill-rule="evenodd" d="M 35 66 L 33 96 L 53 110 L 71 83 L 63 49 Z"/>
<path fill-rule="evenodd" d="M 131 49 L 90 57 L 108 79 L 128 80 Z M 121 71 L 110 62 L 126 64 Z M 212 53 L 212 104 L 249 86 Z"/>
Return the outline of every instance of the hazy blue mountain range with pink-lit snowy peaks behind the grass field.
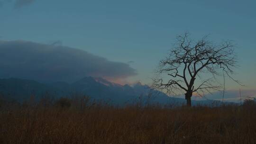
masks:
<path fill-rule="evenodd" d="M 158 104 L 185 104 L 185 99 L 169 97 L 165 93 L 157 90 L 150 90 L 148 85 L 140 82 L 130 86 L 120 85 L 102 78 L 84 77 L 73 83 L 54 82 L 40 83 L 33 80 L 23 80 L 16 78 L 0 79 L 0 96 L 3 99 L 16 100 L 22 102 L 35 96 L 40 99 L 45 95 L 55 98 L 70 97 L 74 94 L 86 95 L 91 99 L 109 101 L 113 104 L 127 104 L 138 100 L 148 103 Z M 220 104 L 216 100 L 193 100 L 192 104 L 211 105 Z"/>

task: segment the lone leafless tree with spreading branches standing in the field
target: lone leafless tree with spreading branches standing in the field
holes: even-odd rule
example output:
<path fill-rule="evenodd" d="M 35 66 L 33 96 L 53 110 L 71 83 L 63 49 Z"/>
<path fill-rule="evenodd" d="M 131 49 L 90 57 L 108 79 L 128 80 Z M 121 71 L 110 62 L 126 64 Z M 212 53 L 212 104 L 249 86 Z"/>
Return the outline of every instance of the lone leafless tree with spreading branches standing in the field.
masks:
<path fill-rule="evenodd" d="M 208 40 L 208 36 L 204 36 L 194 42 L 189 38 L 189 34 L 185 33 L 183 36 L 177 36 L 177 44 L 170 54 L 160 61 L 157 77 L 153 79 L 153 88 L 167 90 L 173 94 L 185 92 L 187 106 L 191 106 L 193 93 L 203 96 L 205 92 L 220 90 L 221 84 L 216 76 L 222 72 L 236 81 L 232 78 L 232 69 L 236 67 L 236 63 L 231 41 L 216 45 Z M 165 81 L 167 76 L 171 78 Z"/>

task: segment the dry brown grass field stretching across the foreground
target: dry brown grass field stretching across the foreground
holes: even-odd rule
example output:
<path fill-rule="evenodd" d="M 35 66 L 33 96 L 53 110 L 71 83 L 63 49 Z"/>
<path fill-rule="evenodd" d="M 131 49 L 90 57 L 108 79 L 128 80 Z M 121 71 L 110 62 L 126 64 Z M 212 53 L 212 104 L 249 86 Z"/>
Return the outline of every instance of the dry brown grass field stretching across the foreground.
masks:
<path fill-rule="evenodd" d="M 0 144 L 256 144 L 256 106 L 1 109 Z"/>

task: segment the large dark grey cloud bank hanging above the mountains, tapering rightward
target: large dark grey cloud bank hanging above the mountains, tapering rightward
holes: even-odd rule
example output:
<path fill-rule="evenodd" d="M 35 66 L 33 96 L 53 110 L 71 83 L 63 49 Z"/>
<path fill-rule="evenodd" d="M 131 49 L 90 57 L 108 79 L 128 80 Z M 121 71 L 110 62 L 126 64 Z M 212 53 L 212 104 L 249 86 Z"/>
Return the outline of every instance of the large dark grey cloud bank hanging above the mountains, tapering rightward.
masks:
<path fill-rule="evenodd" d="M 0 41 L 0 78 L 73 82 L 85 76 L 119 80 L 136 74 L 127 63 L 111 62 L 80 49 Z"/>

